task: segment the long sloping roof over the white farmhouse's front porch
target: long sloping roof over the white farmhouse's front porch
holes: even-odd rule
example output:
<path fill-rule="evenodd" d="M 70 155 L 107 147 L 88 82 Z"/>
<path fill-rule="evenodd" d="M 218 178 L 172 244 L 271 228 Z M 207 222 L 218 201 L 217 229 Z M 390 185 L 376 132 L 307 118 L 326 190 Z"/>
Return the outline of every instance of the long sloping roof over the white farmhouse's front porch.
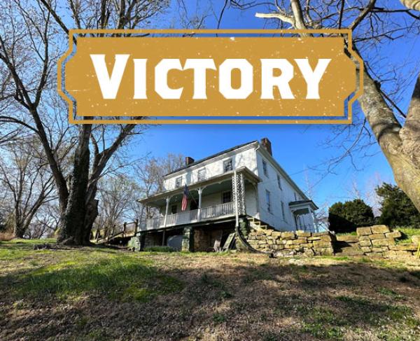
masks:
<path fill-rule="evenodd" d="M 203 181 L 197 181 L 195 183 L 188 184 L 188 190 L 197 190 L 198 188 L 202 188 L 205 186 L 209 186 L 213 183 L 218 183 L 223 180 L 228 180 L 232 177 L 232 174 L 234 172 L 237 173 L 243 173 L 246 177 L 246 179 L 254 181 L 255 183 L 258 183 L 261 181 L 260 177 L 255 175 L 248 167 L 239 167 L 235 170 L 225 172 L 223 174 L 218 174 L 216 176 L 211 176 L 208 179 L 205 179 Z M 154 202 L 156 200 L 162 200 L 167 197 L 172 197 L 173 195 L 177 195 L 183 193 L 183 186 L 179 188 L 174 188 L 172 190 L 165 190 L 163 192 L 156 193 L 154 195 L 151 195 L 150 197 L 144 197 L 141 199 L 137 199 L 137 202 L 141 202 L 141 204 L 147 204 L 148 202 Z"/>

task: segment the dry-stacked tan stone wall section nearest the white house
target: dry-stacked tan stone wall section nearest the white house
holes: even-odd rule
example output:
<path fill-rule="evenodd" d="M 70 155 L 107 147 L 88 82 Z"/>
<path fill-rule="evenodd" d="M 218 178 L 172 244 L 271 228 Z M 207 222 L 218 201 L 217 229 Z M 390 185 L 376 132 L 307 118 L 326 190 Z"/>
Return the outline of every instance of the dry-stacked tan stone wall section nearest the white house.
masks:
<path fill-rule="evenodd" d="M 248 234 L 248 243 L 260 251 L 273 251 L 281 256 L 302 253 L 306 256 L 334 254 L 332 235 L 329 232 L 279 232 L 258 230 Z"/>

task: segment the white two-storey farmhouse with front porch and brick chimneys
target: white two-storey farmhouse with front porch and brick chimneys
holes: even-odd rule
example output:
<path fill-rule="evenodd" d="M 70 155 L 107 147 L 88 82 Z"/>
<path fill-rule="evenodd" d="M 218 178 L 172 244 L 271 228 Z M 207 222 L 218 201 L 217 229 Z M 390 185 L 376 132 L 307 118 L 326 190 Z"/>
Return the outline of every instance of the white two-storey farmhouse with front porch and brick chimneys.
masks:
<path fill-rule="evenodd" d="M 139 202 L 160 212 L 139 224 L 142 246 L 208 251 L 223 246 L 239 223 L 318 232 L 318 207 L 274 160 L 267 138 L 198 161 L 187 157 L 184 167 L 165 175 L 162 192 Z"/>

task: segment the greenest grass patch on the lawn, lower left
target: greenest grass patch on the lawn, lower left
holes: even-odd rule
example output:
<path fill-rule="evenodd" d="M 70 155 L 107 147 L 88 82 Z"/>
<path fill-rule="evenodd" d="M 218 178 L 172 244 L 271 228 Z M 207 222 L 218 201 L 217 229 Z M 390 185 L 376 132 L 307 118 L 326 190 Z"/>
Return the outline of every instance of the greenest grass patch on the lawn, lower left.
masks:
<path fill-rule="evenodd" d="M 0 286 L 15 284 L 8 294 L 14 298 L 69 298 L 79 295 L 100 294 L 109 299 L 139 300 L 179 291 L 181 280 L 161 274 L 152 266 L 152 260 L 120 256 L 99 259 L 60 261 L 36 270 L 25 270 L 0 277 Z"/>

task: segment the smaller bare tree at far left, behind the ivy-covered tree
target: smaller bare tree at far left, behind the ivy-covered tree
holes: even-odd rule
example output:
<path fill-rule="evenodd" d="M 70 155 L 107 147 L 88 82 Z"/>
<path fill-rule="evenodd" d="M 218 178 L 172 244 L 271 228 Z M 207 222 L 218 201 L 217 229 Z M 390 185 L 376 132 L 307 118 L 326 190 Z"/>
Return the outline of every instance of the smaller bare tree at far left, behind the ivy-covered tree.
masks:
<path fill-rule="evenodd" d="M 7 199 L 3 204 L 13 215 L 15 237 L 22 238 L 38 209 L 55 199 L 54 182 L 38 140 L 8 144 L 2 152 L 0 188 Z"/>

